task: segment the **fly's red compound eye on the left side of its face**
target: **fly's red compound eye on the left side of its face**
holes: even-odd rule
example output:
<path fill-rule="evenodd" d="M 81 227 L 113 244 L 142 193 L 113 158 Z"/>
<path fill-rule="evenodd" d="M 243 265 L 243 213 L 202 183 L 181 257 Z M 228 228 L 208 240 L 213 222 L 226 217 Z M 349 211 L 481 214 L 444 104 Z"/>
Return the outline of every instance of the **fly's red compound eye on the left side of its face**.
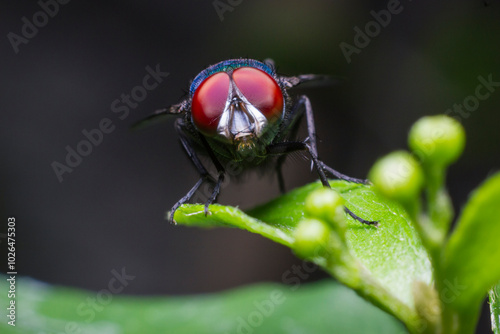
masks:
<path fill-rule="evenodd" d="M 224 111 L 229 93 L 229 75 L 219 72 L 209 76 L 196 89 L 191 102 L 193 122 L 202 133 L 213 136 Z"/>

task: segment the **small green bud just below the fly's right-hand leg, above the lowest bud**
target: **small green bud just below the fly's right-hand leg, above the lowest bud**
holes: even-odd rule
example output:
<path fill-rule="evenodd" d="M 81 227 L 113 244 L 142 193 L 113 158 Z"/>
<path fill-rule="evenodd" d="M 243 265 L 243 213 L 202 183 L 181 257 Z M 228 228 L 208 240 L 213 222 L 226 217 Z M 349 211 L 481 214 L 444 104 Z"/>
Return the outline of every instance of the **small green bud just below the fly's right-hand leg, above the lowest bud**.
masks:
<path fill-rule="evenodd" d="M 321 188 L 306 198 L 306 214 L 327 222 L 344 222 L 344 199 L 333 189 Z"/>

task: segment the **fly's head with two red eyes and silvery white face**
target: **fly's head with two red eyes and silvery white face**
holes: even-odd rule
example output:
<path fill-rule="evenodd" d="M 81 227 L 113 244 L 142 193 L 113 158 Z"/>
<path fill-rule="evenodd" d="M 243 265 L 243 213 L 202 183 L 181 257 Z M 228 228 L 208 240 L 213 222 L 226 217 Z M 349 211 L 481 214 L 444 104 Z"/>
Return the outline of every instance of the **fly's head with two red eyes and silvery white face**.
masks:
<path fill-rule="evenodd" d="M 193 80 L 191 120 L 201 134 L 232 146 L 239 157 L 259 155 L 283 119 L 285 98 L 270 66 L 251 59 L 227 60 Z"/>

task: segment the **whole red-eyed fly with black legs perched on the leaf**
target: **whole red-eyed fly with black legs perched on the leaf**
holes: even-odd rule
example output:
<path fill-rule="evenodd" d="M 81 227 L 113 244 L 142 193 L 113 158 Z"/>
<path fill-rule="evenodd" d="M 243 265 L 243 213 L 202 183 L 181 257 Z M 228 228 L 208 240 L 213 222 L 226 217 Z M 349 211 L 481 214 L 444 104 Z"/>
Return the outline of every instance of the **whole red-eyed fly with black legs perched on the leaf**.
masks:
<path fill-rule="evenodd" d="M 282 165 L 288 154 L 308 153 L 323 186 L 330 188 L 327 174 L 341 180 L 368 184 L 368 180 L 349 177 L 324 164 L 318 158 L 313 109 L 305 95 L 292 98 L 290 88 L 305 82 L 325 80 L 327 76 L 306 74 L 282 76 L 276 74 L 272 60 L 260 62 L 253 59 L 230 59 L 208 67 L 192 81 L 188 97 L 178 104 L 157 110 L 139 121 L 139 128 L 166 118 L 180 116 L 175 129 L 186 154 L 193 162 L 200 179 L 170 210 L 169 222 L 174 223 L 174 213 L 188 202 L 204 182 L 213 185 L 211 196 L 205 202 L 205 215 L 209 205 L 216 201 L 229 163 L 244 169 L 272 161 L 276 167 L 278 184 L 284 192 Z M 299 121 L 305 115 L 308 137 L 295 140 Z M 213 178 L 198 158 L 205 153 L 217 169 Z M 358 217 L 345 207 L 357 221 L 377 225 Z"/>

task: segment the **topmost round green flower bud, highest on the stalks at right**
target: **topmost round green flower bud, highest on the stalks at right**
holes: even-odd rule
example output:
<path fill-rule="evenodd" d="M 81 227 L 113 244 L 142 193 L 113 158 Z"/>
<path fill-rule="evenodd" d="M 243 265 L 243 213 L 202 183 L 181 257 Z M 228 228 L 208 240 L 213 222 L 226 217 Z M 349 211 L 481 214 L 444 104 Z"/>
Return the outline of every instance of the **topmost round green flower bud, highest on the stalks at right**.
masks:
<path fill-rule="evenodd" d="M 446 167 L 462 154 L 465 130 L 446 115 L 422 117 L 412 126 L 408 145 L 425 165 Z"/>

